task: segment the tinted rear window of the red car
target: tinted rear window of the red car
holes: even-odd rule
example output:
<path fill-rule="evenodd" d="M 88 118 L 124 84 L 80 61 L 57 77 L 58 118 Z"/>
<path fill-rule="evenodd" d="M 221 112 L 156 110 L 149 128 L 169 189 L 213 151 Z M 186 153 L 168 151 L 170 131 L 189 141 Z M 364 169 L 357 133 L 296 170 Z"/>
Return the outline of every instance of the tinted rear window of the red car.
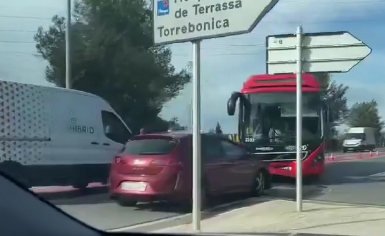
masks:
<path fill-rule="evenodd" d="M 179 141 L 172 139 L 150 138 L 130 140 L 122 154 L 126 155 L 166 155 L 171 153 Z"/>

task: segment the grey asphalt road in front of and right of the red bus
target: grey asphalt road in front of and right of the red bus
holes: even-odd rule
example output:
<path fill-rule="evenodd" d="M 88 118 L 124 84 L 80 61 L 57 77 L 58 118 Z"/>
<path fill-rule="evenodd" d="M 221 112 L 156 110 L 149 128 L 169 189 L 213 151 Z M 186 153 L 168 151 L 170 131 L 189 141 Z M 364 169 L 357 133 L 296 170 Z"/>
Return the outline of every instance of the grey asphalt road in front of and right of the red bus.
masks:
<path fill-rule="evenodd" d="M 294 200 L 295 185 L 281 184 L 269 195 Z M 385 206 L 385 157 L 329 163 L 327 172 L 318 183 L 304 186 L 303 198 Z"/>

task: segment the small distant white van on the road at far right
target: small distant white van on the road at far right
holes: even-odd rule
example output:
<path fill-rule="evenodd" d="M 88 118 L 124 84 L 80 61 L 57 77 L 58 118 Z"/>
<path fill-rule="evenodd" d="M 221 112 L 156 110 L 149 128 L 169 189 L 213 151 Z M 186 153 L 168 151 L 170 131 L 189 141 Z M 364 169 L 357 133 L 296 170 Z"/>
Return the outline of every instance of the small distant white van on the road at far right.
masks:
<path fill-rule="evenodd" d="M 368 127 L 350 128 L 342 145 L 343 152 L 372 151 L 376 148 L 375 129 Z"/>

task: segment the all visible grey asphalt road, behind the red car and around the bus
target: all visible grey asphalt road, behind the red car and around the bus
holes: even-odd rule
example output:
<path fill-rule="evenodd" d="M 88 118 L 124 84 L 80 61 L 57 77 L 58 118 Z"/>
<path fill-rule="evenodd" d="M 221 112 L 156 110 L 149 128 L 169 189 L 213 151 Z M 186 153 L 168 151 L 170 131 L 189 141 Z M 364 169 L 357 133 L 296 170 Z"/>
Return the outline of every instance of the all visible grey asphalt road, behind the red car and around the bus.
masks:
<path fill-rule="evenodd" d="M 372 157 L 362 154 L 362 159 L 357 153 L 339 153 L 334 156 L 335 160 L 328 164 L 327 173 L 322 180 L 316 184 L 304 186 L 304 199 L 385 206 L 385 156 L 383 153 Z M 382 176 L 371 176 L 382 172 L 384 173 Z M 267 194 L 271 198 L 295 199 L 295 185 L 290 182 L 279 183 Z M 244 196 L 221 199 L 216 204 L 221 205 L 243 198 Z M 180 207 L 166 203 L 121 207 L 109 200 L 107 194 L 100 193 L 51 200 L 51 202 L 81 221 L 102 230 L 186 214 Z M 236 207 L 239 205 L 235 204 L 222 210 Z"/>

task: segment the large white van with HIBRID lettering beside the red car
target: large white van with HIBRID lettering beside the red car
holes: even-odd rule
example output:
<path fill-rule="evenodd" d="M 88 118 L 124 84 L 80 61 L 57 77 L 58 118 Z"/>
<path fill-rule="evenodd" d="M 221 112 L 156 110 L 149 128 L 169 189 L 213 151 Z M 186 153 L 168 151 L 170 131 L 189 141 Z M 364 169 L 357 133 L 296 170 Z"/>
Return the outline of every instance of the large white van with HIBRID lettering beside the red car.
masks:
<path fill-rule="evenodd" d="M 96 95 L 0 81 L 0 169 L 29 187 L 106 183 L 130 137 Z"/>

